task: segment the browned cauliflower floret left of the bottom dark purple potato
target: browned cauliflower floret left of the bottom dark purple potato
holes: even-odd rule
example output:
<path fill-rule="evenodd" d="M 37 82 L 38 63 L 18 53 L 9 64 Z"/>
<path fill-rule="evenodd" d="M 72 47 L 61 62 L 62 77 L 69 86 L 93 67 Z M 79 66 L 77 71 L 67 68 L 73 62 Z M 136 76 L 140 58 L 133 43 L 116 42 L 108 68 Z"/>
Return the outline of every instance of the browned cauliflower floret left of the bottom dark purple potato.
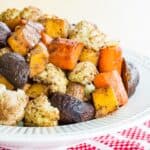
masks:
<path fill-rule="evenodd" d="M 51 106 L 44 95 L 29 101 L 25 109 L 25 125 L 27 126 L 56 126 L 58 120 L 58 109 Z"/>

